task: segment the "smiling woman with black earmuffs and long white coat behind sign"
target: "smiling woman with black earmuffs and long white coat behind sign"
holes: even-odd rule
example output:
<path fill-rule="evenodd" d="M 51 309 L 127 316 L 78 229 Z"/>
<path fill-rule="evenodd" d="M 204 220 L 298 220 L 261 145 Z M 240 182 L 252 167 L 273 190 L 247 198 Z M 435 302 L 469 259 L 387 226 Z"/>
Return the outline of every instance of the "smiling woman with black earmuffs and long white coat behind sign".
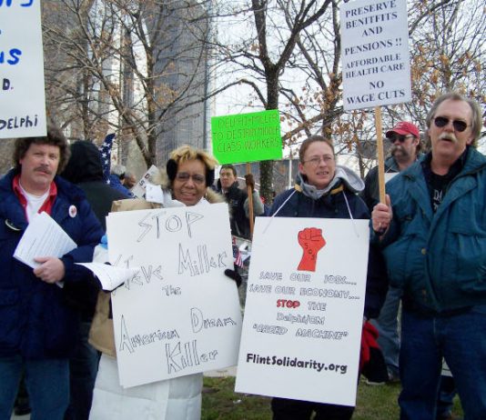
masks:
<path fill-rule="evenodd" d="M 167 161 L 167 176 L 151 182 L 161 185 L 164 202 L 159 205 L 144 199 L 122 200 L 114 204 L 116 211 L 140 210 L 180 205 L 223 203 L 224 197 L 209 186 L 214 182 L 217 161 L 203 150 L 183 145 L 174 150 Z M 167 179 L 168 177 L 168 179 Z M 163 255 L 161 255 L 163 259 Z M 226 270 L 228 277 L 241 283 L 238 271 Z M 164 310 L 161 308 L 160 310 Z M 157 418 L 157 420 L 197 420 L 201 414 L 202 374 L 186 375 L 153 384 L 123 388 L 118 384 L 113 320 L 109 295 L 100 293 L 96 315 L 90 332 L 90 343 L 103 352 L 96 377 L 95 397 L 90 419 L 106 420 L 116 413 L 117 420 Z"/>

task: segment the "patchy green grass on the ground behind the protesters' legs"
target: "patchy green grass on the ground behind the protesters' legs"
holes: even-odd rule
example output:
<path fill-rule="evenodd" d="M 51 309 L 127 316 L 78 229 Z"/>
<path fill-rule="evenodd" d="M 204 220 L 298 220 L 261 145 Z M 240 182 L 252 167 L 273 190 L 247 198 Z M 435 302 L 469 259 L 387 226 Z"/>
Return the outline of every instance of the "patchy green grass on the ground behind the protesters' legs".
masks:
<path fill-rule="evenodd" d="M 271 420 L 270 398 L 234 393 L 235 378 L 205 377 L 203 420 Z M 394 420 L 399 418 L 397 398 L 400 384 L 370 386 L 359 383 L 353 420 Z M 456 397 L 454 414 L 461 415 Z"/>

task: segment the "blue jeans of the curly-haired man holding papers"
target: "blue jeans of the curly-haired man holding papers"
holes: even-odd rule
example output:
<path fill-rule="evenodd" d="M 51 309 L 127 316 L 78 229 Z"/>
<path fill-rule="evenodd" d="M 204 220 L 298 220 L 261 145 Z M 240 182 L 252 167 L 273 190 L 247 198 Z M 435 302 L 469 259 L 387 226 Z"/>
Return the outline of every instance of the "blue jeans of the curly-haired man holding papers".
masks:
<path fill-rule="evenodd" d="M 62 420 L 69 403 L 68 359 L 31 360 L 21 355 L 0 357 L 0 420 L 12 415 L 24 370 L 31 420 Z"/>

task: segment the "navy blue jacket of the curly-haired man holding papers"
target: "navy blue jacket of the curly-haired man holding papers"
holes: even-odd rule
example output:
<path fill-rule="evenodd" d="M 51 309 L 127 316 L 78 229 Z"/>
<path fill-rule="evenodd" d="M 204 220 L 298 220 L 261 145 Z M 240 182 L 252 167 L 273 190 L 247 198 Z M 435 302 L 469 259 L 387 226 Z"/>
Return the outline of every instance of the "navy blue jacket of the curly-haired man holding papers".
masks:
<path fill-rule="evenodd" d="M 76 310 L 66 304 L 62 288 L 38 279 L 31 267 L 13 257 L 27 226 L 24 208 L 12 188 L 14 176 L 12 170 L 0 180 L 0 357 L 66 357 L 76 339 Z M 92 275 L 75 263 L 92 261 L 103 230 L 82 190 L 58 176 L 55 182 L 51 217 L 77 245 L 61 258 L 66 268 L 63 280 L 65 284 L 86 282 L 88 287 Z"/>

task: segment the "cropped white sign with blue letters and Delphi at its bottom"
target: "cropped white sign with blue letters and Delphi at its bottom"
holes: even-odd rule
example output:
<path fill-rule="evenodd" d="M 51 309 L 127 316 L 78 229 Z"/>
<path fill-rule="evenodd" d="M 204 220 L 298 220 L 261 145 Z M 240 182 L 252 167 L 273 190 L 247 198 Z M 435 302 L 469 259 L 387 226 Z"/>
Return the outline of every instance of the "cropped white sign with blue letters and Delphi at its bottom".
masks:
<path fill-rule="evenodd" d="M 0 1 L 0 138 L 46 135 L 38 0 Z"/>

